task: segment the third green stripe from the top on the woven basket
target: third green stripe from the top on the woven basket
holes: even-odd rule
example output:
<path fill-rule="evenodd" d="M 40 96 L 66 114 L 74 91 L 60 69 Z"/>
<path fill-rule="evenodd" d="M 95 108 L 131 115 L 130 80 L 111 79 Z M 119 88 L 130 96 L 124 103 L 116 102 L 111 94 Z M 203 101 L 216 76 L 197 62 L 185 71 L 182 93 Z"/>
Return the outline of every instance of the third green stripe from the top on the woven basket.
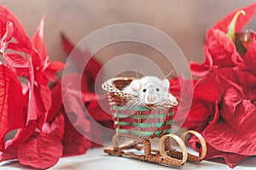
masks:
<path fill-rule="evenodd" d="M 172 125 L 173 120 L 167 122 L 168 125 Z M 133 127 L 153 127 L 153 122 L 114 122 L 115 125 L 118 126 L 133 126 Z M 166 125 L 166 122 L 154 122 L 154 127 L 163 127 Z"/>

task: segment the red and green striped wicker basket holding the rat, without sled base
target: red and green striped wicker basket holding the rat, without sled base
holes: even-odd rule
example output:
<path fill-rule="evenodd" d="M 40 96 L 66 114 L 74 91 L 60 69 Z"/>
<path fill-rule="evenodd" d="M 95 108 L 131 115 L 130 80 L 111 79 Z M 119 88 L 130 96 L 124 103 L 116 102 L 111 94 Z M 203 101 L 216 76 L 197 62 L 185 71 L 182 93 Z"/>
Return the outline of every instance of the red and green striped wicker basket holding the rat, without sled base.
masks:
<path fill-rule="evenodd" d="M 127 102 L 137 100 L 136 96 L 122 92 L 122 89 L 133 79 L 133 77 L 116 77 L 102 85 L 102 88 L 108 92 L 116 133 L 132 139 L 139 137 L 153 139 L 171 133 L 172 107 L 177 105 L 176 102 L 166 101 L 156 105 L 125 107 Z"/>

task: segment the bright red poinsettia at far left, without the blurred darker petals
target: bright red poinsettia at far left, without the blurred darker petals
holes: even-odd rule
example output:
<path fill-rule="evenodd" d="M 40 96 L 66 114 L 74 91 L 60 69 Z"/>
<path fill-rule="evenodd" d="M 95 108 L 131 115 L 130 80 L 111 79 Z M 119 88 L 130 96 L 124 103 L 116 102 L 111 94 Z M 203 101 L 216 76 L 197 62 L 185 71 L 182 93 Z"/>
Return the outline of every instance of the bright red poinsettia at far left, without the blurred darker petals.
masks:
<path fill-rule="evenodd" d="M 48 77 L 54 77 L 63 64 L 49 63 L 43 42 L 44 19 L 30 41 L 15 15 L 7 8 L 0 10 L 1 53 L 5 59 L 1 65 L 0 161 L 18 158 L 32 167 L 51 167 L 62 154 L 59 149 L 64 124 L 62 116 L 45 122 L 51 106 Z M 5 134 L 13 129 L 19 129 L 18 133 L 4 144 Z M 46 162 L 48 155 L 51 157 Z"/>

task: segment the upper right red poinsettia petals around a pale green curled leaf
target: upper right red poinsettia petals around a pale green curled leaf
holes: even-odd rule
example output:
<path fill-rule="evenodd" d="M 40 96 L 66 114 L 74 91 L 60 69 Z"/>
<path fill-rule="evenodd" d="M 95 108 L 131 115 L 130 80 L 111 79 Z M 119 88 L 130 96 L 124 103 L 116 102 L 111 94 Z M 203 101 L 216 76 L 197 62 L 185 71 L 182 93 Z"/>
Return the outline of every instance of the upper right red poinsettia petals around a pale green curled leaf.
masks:
<path fill-rule="evenodd" d="M 255 13 L 255 4 L 241 8 L 208 29 L 206 42 L 203 46 L 205 62 L 203 64 L 190 62 L 192 73 L 197 77 L 202 77 L 214 67 L 236 66 L 236 63 L 241 60 L 241 56 L 238 54 L 234 43 L 235 33 L 240 32 Z"/>

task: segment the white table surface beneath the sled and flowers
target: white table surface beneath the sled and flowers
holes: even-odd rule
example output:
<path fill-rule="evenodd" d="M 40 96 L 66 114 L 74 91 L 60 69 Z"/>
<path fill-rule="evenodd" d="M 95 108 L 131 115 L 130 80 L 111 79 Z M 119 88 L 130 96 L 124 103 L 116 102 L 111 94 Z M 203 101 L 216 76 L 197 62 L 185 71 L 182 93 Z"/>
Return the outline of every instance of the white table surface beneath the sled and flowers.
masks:
<path fill-rule="evenodd" d="M 191 152 L 191 150 L 189 150 Z M 193 152 L 193 151 L 192 151 Z M 33 169 L 32 167 L 22 166 L 18 161 L 5 161 L 0 164 L 0 169 Z M 103 148 L 90 149 L 82 156 L 70 156 L 61 158 L 60 161 L 50 170 L 167 170 L 167 169 L 231 169 L 227 165 L 212 162 L 201 161 L 199 164 L 186 162 L 183 167 L 165 167 L 144 161 L 138 161 L 131 158 L 108 156 L 103 152 Z M 238 169 L 256 169 L 256 157 L 243 161 Z"/>

